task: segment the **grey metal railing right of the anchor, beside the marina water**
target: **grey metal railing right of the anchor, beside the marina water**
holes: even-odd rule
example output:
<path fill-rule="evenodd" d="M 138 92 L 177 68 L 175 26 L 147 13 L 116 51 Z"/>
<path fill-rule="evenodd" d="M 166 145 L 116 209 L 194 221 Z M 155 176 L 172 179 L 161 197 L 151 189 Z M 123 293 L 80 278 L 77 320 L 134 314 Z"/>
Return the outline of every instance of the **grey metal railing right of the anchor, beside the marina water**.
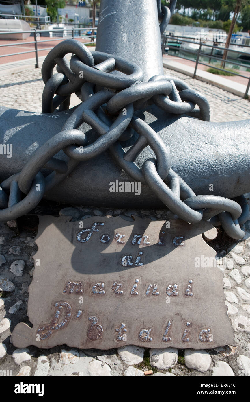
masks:
<path fill-rule="evenodd" d="M 182 38 L 185 38 L 185 39 L 182 39 Z M 175 35 L 162 35 L 162 53 L 163 54 L 166 53 L 165 48 L 168 45 L 169 39 L 175 41 L 175 43 L 178 43 L 178 42 L 181 42 L 181 43 L 184 42 L 185 43 L 185 42 L 187 42 L 187 43 L 196 43 L 197 45 L 199 45 L 199 48 L 198 48 L 197 52 L 193 51 L 193 50 L 188 50 L 188 49 L 181 49 L 181 51 L 183 51 L 184 53 L 190 53 L 190 54 L 197 55 L 196 61 L 195 61 L 195 68 L 194 68 L 194 72 L 193 72 L 193 78 L 195 78 L 195 76 L 196 76 L 198 64 L 202 64 L 203 66 L 211 67 L 211 64 L 206 64 L 204 62 L 201 62 L 199 60 L 200 56 L 208 57 L 209 58 L 208 63 L 210 63 L 211 59 L 218 60 L 220 62 L 223 62 L 223 68 L 217 67 L 215 65 L 213 65 L 213 68 L 215 68 L 216 70 L 228 72 L 229 74 L 233 74 L 233 75 L 236 75 L 238 77 L 246 78 L 248 80 L 248 84 L 246 86 L 246 92 L 244 94 L 244 98 L 248 98 L 248 91 L 249 91 L 249 88 L 250 88 L 250 76 L 248 77 L 248 76 L 245 76 L 245 75 L 233 72 L 233 71 L 229 71 L 229 70 L 226 70 L 226 68 L 225 68 L 226 63 L 234 64 L 236 66 L 243 66 L 243 67 L 250 68 L 250 66 L 247 65 L 247 64 L 237 63 L 237 62 L 232 61 L 232 59 L 228 60 L 228 52 L 229 51 L 233 52 L 233 53 L 242 53 L 242 51 L 229 49 L 228 47 L 221 47 L 221 46 L 218 47 L 218 46 L 215 46 L 215 45 L 207 45 L 206 43 L 203 43 L 201 41 L 199 41 L 199 42 L 196 41 L 195 42 L 194 39 L 191 38 L 191 37 L 175 36 Z M 193 40 L 188 40 L 188 39 L 193 39 Z M 215 42 L 213 42 L 213 43 L 215 43 Z M 235 45 L 235 43 L 230 43 L 230 45 Z M 211 48 L 211 53 L 203 53 L 201 51 L 201 47 L 203 47 L 203 46 L 210 47 Z M 244 52 L 244 53 L 246 53 L 250 57 L 250 45 L 238 45 L 237 44 L 237 46 L 239 46 L 239 47 L 248 47 L 249 48 L 249 53 L 246 53 L 246 52 Z M 213 55 L 213 49 L 216 49 L 216 50 L 220 49 L 223 52 L 226 51 L 226 57 L 223 58 L 223 56 L 222 57 L 217 57 L 217 56 Z M 184 56 L 181 56 L 181 55 L 175 55 L 175 56 L 180 57 L 181 59 L 185 59 L 185 60 L 189 60 L 191 62 L 194 62 L 194 60 L 192 60 L 192 59 L 190 59 L 188 57 L 184 57 Z"/>

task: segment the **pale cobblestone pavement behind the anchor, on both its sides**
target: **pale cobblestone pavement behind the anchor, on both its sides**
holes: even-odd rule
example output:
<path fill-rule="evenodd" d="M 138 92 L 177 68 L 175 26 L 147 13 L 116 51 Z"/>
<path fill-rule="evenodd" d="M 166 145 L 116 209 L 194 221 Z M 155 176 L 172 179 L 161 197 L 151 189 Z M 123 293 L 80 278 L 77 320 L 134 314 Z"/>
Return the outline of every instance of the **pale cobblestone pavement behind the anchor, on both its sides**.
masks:
<path fill-rule="evenodd" d="M 250 119 L 250 103 L 246 99 L 224 91 L 206 82 L 193 79 L 185 74 L 164 69 L 165 74 L 182 78 L 191 88 L 204 94 L 211 107 L 211 121 L 234 121 Z M 0 105 L 13 109 L 41 112 L 43 80 L 40 68 L 30 68 L 0 77 Z M 71 106 L 79 103 L 73 95 Z"/>

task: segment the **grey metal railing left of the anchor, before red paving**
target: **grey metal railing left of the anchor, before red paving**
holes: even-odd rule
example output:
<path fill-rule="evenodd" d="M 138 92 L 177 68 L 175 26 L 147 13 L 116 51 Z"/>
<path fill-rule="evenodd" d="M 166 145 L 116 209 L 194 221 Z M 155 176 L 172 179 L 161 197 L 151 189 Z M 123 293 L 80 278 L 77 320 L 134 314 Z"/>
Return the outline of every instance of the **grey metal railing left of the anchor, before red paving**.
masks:
<path fill-rule="evenodd" d="M 51 50 L 53 49 L 53 47 L 42 47 L 41 49 L 39 49 L 37 47 L 37 43 L 44 43 L 44 42 L 53 42 L 53 41 L 60 41 L 60 40 L 64 40 L 64 39 L 88 39 L 88 38 L 96 38 L 96 35 L 81 35 L 81 31 L 89 31 L 89 28 L 71 28 L 71 29 L 65 29 L 65 28 L 59 28 L 59 29 L 41 29 L 41 30 L 37 30 L 37 29 L 33 29 L 31 31 L 12 31 L 12 32 L 0 32 L 0 40 L 1 40 L 1 35 L 6 35 L 6 33 L 8 34 L 17 34 L 17 33 L 30 33 L 31 35 L 34 35 L 34 41 L 24 41 L 24 42 L 18 42 L 18 43 L 6 43 L 4 45 L 0 45 L 1 47 L 6 47 L 6 46 L 18 46 L 18 45 L 28 45 L 28 44 L 34 44 L 35 49 L 33 50 L 27 50 L 27 51 L 22 51 L 22 52 L 17 52 L 17 53 L 9 53 L 9 54 L 3 54 L 0 55 L 0 57 L 8 57 L 8 56 L 15 56 L 15 55 L 19 55 L 19 54 L 25 54 L 25 53 L 34 53 L 36 54 L 36 66 L 35 68 L 39 68 L 39 62 L 38 62 L 38 52 L 39 51 L 43 51 L 43 50 Z M 44 33 L 44 32 L 51 32 L 52 34 L 55 32 L 63 32 L 63 37 L 61 39 L 59 39 L 59 37 L 54 38 L 54 39 L 45 39 L 45 40 L 40 40 L 40 33 Z M 79 31 L 80 31 L 80 35 L 77 36 L 75 35 L 76 31 L 78 31 L 78 35 L 79 35 Z M 66 36 L 65 36 L 66 33 Z M 70 33 L 69 35 L 67 35 L 68 33 Z M 30 35 L 30 36 L 31 36 Z M 90 42 L 84 42 L 84 45 L 89 45 L 89 44 L 93 44 L 93 41 Z"/>

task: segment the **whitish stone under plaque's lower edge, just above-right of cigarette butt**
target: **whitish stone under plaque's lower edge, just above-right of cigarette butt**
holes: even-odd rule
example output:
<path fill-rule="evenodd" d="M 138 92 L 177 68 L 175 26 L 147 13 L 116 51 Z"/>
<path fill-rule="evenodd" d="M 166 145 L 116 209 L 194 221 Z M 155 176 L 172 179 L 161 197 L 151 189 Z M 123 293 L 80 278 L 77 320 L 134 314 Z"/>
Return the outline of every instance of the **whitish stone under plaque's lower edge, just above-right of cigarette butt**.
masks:
<path fill-rule="evenodd" d="M 150 365 L 159 370 L 166 370 L 174 367 L 178 359 L 178 349 L 150 349 Z"/>

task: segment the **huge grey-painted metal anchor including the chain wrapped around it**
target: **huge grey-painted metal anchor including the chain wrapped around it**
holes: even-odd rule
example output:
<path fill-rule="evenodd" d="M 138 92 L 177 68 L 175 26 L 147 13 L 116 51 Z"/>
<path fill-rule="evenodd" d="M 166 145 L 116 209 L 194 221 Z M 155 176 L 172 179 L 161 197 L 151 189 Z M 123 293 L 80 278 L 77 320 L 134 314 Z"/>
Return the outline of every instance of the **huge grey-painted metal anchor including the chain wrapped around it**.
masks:
<path fill-rule="evenodd" d="M 205 219 L 244 236 L 250 121 L 210 123 L 206 98 L 163 75 L 160 29 L 175 2 L 160 3 L 102 0 L 96 51 L 65 40 L 45 59 L 43 113 L 0 108 L 0 144 L 12 146 L 11 158 L 0 156 L 0 220 L 43 197 L 99 207 L 164 204 L 189 223 Z M 79 106 L 68 110 L 73 92 Z M 117 180 L 140 183 L 140 195 L 110 192 Z"/>

